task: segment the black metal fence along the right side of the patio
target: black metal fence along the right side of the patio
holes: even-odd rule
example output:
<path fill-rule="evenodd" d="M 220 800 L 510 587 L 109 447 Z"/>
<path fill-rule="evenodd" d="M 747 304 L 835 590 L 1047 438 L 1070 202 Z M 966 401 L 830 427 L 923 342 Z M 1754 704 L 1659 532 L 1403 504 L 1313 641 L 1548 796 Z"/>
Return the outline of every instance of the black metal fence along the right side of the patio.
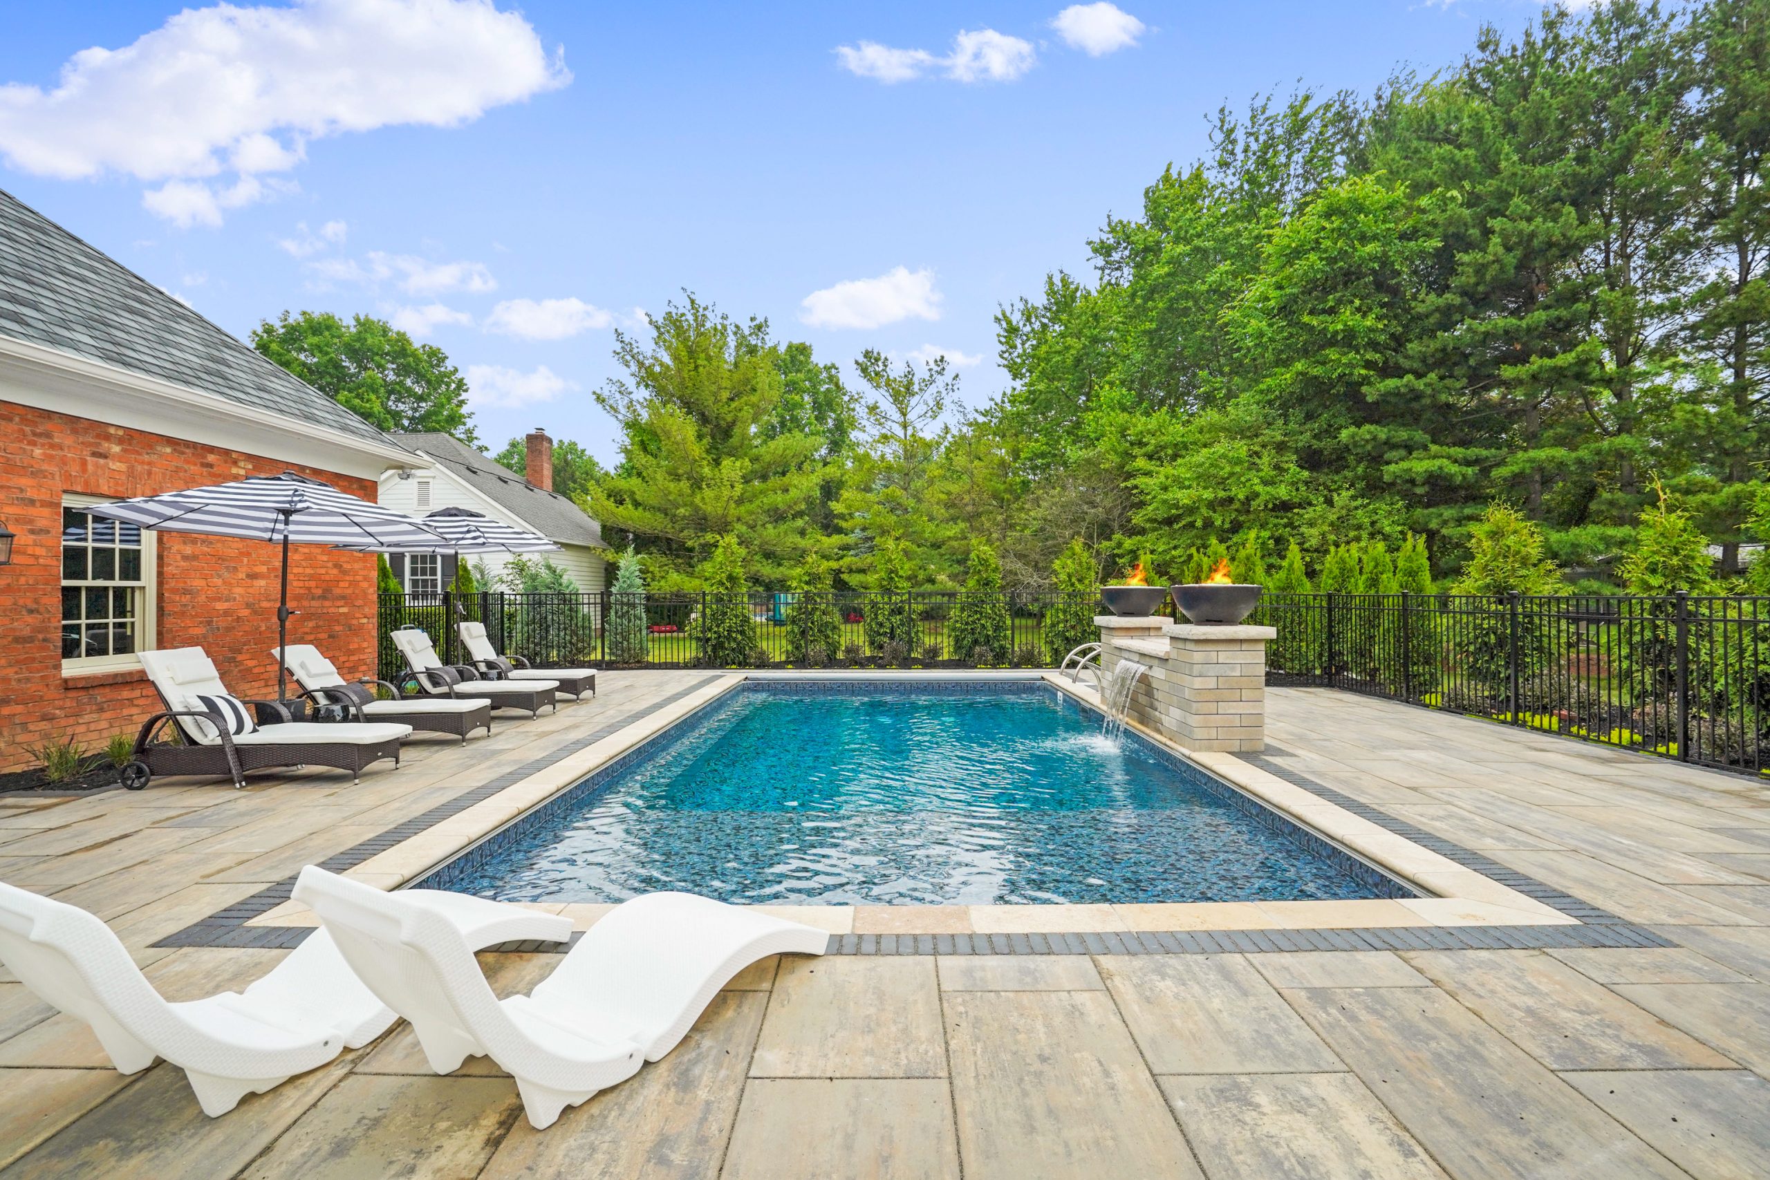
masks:
<path fill-rule="evenodd" d="M 1770 766 L 1770 598 L 1267 594 L 1253 621 L 1271 685 Z"/>

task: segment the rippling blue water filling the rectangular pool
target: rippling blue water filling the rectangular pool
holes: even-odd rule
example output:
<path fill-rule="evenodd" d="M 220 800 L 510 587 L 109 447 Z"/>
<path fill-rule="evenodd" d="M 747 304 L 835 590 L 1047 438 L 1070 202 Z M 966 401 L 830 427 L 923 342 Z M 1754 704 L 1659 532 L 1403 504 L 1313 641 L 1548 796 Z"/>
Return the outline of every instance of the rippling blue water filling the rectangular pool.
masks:
<path fill-rule="evenodd" d="M 427 885 L 504 900 L 991 904 L 1404 895 L 1048 686 L 747 685 Z"/>

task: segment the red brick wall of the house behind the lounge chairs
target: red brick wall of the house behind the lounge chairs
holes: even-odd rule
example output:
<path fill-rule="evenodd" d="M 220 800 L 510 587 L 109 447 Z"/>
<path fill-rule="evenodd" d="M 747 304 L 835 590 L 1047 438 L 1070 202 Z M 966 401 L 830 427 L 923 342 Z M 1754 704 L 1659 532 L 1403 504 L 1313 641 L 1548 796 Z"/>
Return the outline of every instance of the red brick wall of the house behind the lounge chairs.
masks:
<path fill-rule="evenodd" d="M 221 451 L 0 402 L 0 520 L 18 540 L 0 566 L 0 771 L 34 762 L 27 747 L 73 736 L 96 750 L 135 734 L 158 697 L 133 672 L 62 676 L 62 494 L 154 495 L 242 476 L 297 471 L 375 499 L 372 479 Z M 189 533 L 158 536 L 156 647 L 200 646 L 241 697 L 276 695 L 281 550 Z M 349 676 L 373 674 L 375 559 L 324 545 L 289 550 L 289 642 L 315 644 Z"/>

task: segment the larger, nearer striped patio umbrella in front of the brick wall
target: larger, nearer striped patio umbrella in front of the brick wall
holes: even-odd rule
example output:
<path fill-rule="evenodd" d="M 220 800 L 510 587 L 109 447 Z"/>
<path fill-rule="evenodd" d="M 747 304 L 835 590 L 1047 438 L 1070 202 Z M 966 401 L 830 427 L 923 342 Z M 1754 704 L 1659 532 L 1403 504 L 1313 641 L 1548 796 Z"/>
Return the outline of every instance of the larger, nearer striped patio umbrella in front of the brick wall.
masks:
<path fill-rule="evenodd" d="M 427 525 L 382 508 L 329 483 L 285 471 L 280 476 L 248 476 L 207 488 L 142 495 L 131 501 L 94 504 L 94 517 L 122 520 L 161 533 L 204 533 L 281 543 L 283 584 L 276 605 L 276 649 L 289 644 L 289 547 L 294 545 L 411 545 L 435 543 Z M 276 699 L 287 701 L 287 685 L 276 678 Z"/>

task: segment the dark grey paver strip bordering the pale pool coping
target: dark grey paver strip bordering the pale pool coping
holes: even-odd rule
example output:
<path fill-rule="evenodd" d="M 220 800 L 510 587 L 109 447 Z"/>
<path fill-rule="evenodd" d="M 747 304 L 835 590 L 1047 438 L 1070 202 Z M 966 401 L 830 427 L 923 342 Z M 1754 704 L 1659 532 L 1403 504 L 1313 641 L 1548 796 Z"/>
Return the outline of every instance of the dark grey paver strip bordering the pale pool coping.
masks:
<path fill-rule="evenodd" d="M 667 708 L 719 679 L 703 676 L 680 692 L 648 706 L 648 711 Z M 522 766 L 483 782 L 462 794 L 439 803 L 386 831 L 370 837 L 320 862 L 322 869 L 343 872 L 402 840 L 427 831 L 444 819 L 487 800 L 504 787 L 522 782 L 563 757 L 584 750 L 604 738 L 634 724 L 632 715 L 611 718 L 593 732 L 568 739 Z M 1267 745 L 1281 755 L 1294 757 L 1283 747 Z M 1579 925 L 1430 925 L 1430 927 L 1361 927 L 1361 929 L 1306 929 L 1306 931 L 1099 931 L 1048 934 L 832 934 L 827 954 L 832 955 L 1221 955 L 1221 954 L 1283 954 L 1306 950 L 1549 950 L 1581 946 L 1676 946 L 1671 939 L 1618 918 L 1572 893 L 1552 888 L 1515 869 L 1462 847 L 1441 835 L 1397 819 L 1388 812 L 1310 778 L 1266 754 L 1241 754 L 1244 762 L 1257 766 L 1285 782 L 1303 787 L 1322 800 L 1368 819 L 1446 860 L 1501 885 L 1515 888 L 1545 906 L 1579 918 Z M 294 948 L 313 932 L 313 927 L 246 925 L 251 918 L 269 913 L 289 900 L 296 877 L 266 886 L 251 897 L 219 909 L 202 922 L 184 927 L 154 943 L 156 946 L 246 946 L 260 950 Z M 490 950 L 563 954 L 577 945 L 581 934 L 568 943 L 503 943 Z"/>

